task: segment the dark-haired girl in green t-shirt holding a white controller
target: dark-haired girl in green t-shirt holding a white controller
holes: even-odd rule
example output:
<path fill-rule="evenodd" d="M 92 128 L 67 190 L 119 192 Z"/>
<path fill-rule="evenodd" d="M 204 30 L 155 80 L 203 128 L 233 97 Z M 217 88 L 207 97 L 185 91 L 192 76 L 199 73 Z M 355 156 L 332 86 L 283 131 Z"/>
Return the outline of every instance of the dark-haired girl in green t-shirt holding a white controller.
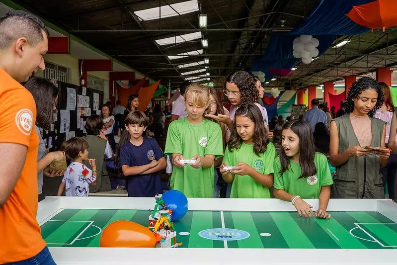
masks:
<path fill-rule="evenodd" d="M 236 110 L 225 151 L 222 177 L 232 183 L 231 198 L 270 198 L 273 186 L 274 145 L 269 142 L 259 108 L 250 103 Z M 225 167 L 235 167 L 234 169 Z"/>

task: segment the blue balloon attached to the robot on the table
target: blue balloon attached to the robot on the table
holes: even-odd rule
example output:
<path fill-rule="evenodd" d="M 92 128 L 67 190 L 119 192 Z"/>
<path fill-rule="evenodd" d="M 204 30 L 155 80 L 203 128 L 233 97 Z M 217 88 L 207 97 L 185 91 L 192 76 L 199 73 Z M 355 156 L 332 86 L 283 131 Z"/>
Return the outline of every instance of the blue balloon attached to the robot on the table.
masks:
<path fill-rule="evenodd" d="M 164 201 L 167 209 L 172 210 L 171 221 L 178 221 L 187 213 L 189 206 L 185 194 L 179 190 L 171 189 L 167 190 L 162 194 L 162 200 Z"/>

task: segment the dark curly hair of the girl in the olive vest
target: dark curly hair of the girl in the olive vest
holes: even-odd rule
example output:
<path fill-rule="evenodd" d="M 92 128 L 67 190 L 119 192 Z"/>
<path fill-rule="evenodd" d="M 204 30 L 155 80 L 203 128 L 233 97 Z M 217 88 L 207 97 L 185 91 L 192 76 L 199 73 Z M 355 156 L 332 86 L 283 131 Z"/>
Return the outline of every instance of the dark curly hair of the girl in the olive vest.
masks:
<path fill-rule="evenodd" d="M 354 101 L 353 99 L 358 99 L 362 91 L 367 89 L 374 89 L 378 92 L 378 99 L 376 101 L 376 105 L 370 112 L 368 112 L 368 116 L 373 117 L 375 112 L 382 106 L 384 96 L 381 86 L 379 83 L 370 77 L 363 77 L 353 83 L 349 92 L 347 93 L 346 98 L 346 109 L 345 113 L 351 113 L 354 109 Z"/>

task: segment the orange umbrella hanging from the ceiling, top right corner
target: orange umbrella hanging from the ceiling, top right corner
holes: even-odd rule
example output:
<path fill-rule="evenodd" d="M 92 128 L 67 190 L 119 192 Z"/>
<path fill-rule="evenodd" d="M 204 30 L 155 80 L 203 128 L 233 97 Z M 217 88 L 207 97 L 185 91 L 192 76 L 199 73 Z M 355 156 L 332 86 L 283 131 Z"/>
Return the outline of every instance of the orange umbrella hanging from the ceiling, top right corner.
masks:
<path fill-rule="evenodd" d="M 385 28 L 397 26 L 396 0 L 376 0 L 373 2 L 353 5 L 346 14 L 357 24 L 374 28 Z"/>

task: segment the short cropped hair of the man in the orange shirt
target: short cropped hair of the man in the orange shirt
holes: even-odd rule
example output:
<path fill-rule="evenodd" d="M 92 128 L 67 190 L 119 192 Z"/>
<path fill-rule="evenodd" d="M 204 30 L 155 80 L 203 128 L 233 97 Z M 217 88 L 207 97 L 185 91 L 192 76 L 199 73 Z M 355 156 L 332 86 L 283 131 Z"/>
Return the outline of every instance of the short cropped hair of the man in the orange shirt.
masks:
<path fill-rule="evenodd" d="M 0 18 L 0 50 L 7 49 L 19 38 L 26 38 L 29 45 L 36 46 L 43 41 L 42 30 L 48 29 L 37 16 L 21 10 L 11 10 Z"/>

